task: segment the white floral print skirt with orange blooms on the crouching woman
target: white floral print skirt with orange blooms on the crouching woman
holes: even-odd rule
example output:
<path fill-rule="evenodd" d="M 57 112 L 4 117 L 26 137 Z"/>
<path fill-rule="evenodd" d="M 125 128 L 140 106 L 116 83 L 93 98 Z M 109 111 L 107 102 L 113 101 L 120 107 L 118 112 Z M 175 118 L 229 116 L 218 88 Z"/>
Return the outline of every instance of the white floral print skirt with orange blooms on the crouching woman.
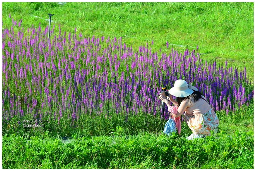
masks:
<path fill-rule="evenodd" d="M 214 110 L 204 114 L 192 115 L 185 112 L 185 120 L 194 134 L 211 135 L 211 131 L 217 133 L 219 119 Z"/>

